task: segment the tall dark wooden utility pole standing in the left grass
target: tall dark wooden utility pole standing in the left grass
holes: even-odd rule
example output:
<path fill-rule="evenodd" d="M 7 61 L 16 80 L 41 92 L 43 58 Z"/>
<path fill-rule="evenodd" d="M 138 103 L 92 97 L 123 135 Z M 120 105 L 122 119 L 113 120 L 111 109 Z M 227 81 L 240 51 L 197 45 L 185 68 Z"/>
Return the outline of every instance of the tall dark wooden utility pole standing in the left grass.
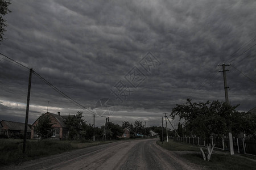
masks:
<path fill-rule="evenodd" d="M 30 89 L 31 89 L 31 76 L 33 70 L 30 69 L 30 77 L 28 79 L 28 90 L 27 90 L 27 108 L 26 108 L 26 119 L 25 119 L 25 127 L 24 127 L 24 138 L 23 138 L 23 149 L 22 152 L 25 154 L 26 151 L 26 142 L 27 142 L 27 122 L 28 122 L 28 111 L 30 109 Z"/>

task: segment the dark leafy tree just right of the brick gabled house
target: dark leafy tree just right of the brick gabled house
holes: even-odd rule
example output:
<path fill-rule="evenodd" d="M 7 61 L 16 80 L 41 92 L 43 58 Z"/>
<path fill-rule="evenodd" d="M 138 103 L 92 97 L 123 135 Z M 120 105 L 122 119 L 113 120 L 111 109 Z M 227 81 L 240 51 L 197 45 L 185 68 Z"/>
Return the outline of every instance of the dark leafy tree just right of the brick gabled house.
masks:
<path fill-rule="evenodd" d="M 69 130 L 68 138 L 69 139 L 79 139 L 80 133 L 82 131 L 82 126 L 85 124 L 85 121 L 82 119 L 82 112 L 77 112 L 76 115 L 68 116 L 65 119 L 65 124 Z M 82 131 L 82 135 L 85 135 L 85 131 Z"/>

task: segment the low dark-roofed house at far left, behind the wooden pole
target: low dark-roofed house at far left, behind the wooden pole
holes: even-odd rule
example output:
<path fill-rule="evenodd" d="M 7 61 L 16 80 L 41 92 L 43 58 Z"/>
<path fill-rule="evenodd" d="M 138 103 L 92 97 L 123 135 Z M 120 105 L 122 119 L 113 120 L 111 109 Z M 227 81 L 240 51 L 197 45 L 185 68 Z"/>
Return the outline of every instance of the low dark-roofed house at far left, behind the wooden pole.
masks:
<path fill-rule="evenodd" d="M 24 123 L 2 120 L 1 126 L 1 134 L 7 135 L 8 138 L 22 138 L 24 135 Z M 31 129 L 27 126 L 27 136 L 30 135 Z"/>

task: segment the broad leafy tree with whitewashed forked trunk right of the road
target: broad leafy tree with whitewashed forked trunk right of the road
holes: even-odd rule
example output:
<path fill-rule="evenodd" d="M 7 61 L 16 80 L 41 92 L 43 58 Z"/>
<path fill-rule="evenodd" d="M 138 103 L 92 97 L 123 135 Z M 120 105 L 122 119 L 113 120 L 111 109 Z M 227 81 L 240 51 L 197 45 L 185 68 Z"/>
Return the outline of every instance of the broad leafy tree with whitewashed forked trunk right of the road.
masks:
<path fill-rule="evenodd" d="M 245 113 L 236 111 L 237 106 L 228 105 L 218 100 L 212 101 L 212 103 L 210 101 L 192 103 L 191 99 L 187 99 L 187 103 L 184 105 L 176 104 L 176 107 L 172 109 L 171 116 L 172 118 L 179 116 L 180 120 L 185 121 L 186 130 L 197 137 L 207 139 L 207 159 L 210 160 L 214 148 L 214 145 L 212 148 L 210 146 L 211 137 L 218 139 L 224 137 L 229 131 L 238 134 L 246 130 L 244 126 L 237 126 L 240 123 L 248 124 L 245 120 Z M 254 126 L 250 124 L 250 127 Z M 204 155 L 202 148 L 200 150 Z"/>

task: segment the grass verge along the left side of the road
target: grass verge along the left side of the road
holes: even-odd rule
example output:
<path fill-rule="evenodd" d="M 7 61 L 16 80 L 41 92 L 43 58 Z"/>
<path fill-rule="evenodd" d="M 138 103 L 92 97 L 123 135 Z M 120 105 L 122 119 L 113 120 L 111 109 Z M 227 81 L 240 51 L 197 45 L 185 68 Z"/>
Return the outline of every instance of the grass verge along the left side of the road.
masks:
<path fill-rule="evenodd" d="M 91 147 L 111 143 L 114 141 L 57 141 L 47 140 L 27 140 L 26 154 L 22 154 L 22 139 L 0 139 L 0 166 L 8 164 L 20 164 L 27 160 L 42 158 L 44 156 L 59 154 L 79 148 Z"/>

